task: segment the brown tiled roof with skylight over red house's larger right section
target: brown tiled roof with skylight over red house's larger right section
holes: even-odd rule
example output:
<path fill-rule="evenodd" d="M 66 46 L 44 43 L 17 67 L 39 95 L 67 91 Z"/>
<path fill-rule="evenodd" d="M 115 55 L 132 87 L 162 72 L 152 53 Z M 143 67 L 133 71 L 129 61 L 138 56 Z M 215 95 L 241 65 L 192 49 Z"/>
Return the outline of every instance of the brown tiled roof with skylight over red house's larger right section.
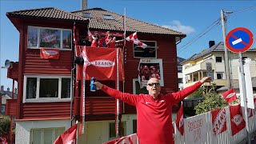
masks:
<path fill-rule="evenodd" d="M 92 8 L 86 10 L 79 10 L 72 12 L 82 16 L 85 13 L 90 13 L 90 29 L 102 29 L 102 30 L 120 30 L 123 31 L 123 18 L 122 14 L 117 14 L 102 8 Z M 110 15 L 113 19 L 105 19 L 103 15 Z M 177 37 L 185 38 L 186 34 L 181 32 L 170 30 L 168 28 L 150 24 L 148 22 L 142 22 L 135 18 L 126 17 L 126 31 L 139 32 L 146 34 L 169 34 Z"/>

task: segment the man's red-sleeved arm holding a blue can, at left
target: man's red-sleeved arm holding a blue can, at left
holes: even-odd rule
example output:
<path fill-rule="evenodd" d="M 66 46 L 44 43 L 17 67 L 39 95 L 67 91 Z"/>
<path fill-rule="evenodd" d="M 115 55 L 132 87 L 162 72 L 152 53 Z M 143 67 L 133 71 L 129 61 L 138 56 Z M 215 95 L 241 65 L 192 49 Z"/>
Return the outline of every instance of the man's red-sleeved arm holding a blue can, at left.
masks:
<path fill-rule="evenodd" d="M 104 91 L 106 94 L 109 94 L 111 97 L 118 98 L 122 102 L 126 102 L 130 105 L 136 106 L 138 103 L 138 94 L 128 94 L 128 93 L 122 93 L 119 90 L 115 90 L 110 88 L 109 86 L 103 85 L 100 82 L 94 82 L 98 90 Z"/>

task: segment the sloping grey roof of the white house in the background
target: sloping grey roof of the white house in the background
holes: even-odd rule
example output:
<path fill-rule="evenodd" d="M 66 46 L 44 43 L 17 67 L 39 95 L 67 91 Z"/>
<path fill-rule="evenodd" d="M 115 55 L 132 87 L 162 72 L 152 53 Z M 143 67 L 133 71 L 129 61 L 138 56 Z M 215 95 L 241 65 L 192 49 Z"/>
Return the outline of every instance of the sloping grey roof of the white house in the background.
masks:
<path fill-rule="evenodd" d="M 196 60 L 198 58 L 202 58 L 203 56 L 206 56 L 207 54 L 210 54 L 212 52 L 224 52 L 224 42 L 218 42 L 214 46 L 211 46 L 210 48 L 203 50 L 201 53 L 194 54 L 190 58 L 187 58 L 184 62 L 191 61 L 191 60 Z M 249 49 L 247 50 L 248 52 L 256 52 L 256 49 Z"/>

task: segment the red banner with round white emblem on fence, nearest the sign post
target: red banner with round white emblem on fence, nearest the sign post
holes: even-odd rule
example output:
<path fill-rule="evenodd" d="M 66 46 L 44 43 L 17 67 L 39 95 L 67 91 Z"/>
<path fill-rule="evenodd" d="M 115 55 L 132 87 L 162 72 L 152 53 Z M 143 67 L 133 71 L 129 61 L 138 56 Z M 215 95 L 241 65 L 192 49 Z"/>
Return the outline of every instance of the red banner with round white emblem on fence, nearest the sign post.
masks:
<path fill-rule="evenodd" d="M 242 117 L 242 109 L 240 105 L 230 106 L 230 124 L 232 136 L 246 127 L 246 122 Z"/>

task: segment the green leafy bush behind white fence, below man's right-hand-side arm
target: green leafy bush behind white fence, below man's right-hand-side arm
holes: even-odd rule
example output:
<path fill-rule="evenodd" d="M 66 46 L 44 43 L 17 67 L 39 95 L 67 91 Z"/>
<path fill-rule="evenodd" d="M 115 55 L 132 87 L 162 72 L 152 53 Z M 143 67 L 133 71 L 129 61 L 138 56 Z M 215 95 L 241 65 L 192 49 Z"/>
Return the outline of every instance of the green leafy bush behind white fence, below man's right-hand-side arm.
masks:
<path fill-rule="evenodd" d="M 227 106 L 226 101 L 216 92 L 210 92 L 205 94 L 205 100 L 198 103 L 198 106 L 194 107 L 195 114 L 206 113 L 210 110 L 216 110 Z"/>

